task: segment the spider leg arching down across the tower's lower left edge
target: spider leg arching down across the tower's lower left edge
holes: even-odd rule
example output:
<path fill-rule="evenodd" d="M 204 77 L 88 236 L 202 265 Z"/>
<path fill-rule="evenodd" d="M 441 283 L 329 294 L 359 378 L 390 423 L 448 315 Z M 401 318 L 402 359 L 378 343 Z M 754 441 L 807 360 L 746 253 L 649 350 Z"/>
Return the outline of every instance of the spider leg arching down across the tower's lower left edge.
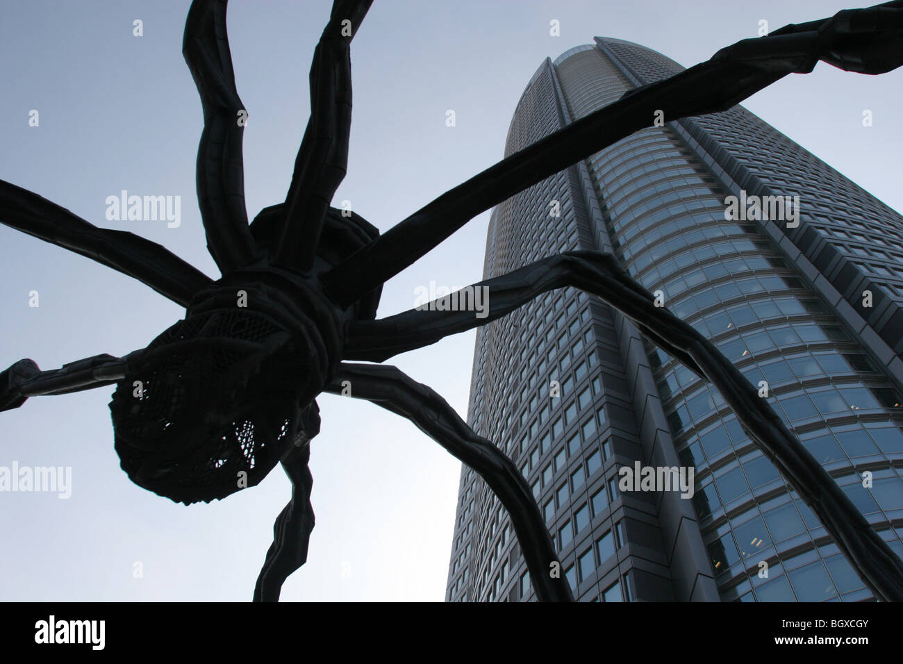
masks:
<path fill-rule="evenodd" d="M 350 382 L 352 397 L 368 399 L 406 417 L 461 463 L 478 472 L 511 517 L 536 597 L 541 602 L 573 602 L 564 576 L 550 574 L 550 566 L 558 563 L 560 569 L 561 563 L 533 492 L 505 454 L 467 426 L 432 388 L 396 367 L 343 362 L 325 391 L 341 394 L 342 382 L 346 380 Z"/>

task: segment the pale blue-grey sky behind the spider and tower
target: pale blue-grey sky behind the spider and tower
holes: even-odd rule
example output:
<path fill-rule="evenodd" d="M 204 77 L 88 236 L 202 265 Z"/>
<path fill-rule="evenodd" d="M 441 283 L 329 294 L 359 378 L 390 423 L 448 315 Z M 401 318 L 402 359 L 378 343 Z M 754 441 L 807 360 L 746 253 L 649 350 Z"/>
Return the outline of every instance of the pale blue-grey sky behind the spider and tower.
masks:
<path fill-rule="evenodd" d="M 92 223 L 171 249 L 216 278 L 195 198 L 202 117 L 182 60 L 189 2 L 0 0 L 0 178 Z M 684 66 L 722 46 L 834 14 L 833 0 L 377 0 L 352 44 L 352 201 L 380 230 L 497 162 L 530 76 L 546 56 L 593 35 L 638 42 Z M 855 6 L 855 5 L 850 5 Z M 228 33 L 245 132 L 247 209 L 284 200 L 309 114 L 308 71 L 326 0 L 235 0 Z M 133 35 L 133 21 L 144 36 Z M 558 20 L 561 35 L 550 36 Z M 903 210 L 903 74 L 861 76 L 819 64 L 747 108 Z M 39 126 L 29 126 L 29 112 Z M 453 109 L 456 126 L 445 126 Z M 862 111 L 874 123 L 863 127 Z M 107 221 L 121 190 L 182 197 L 182 223 Z M 482 214 L 383 290 L 379 315 L 414 306 L 414 289 L 479 281 Z M 37 291 L 39 306 L 29 306 Z M 0 369 L 42 369 L 143 347 L 182 317 L 150 288 L 0 227 Z M 466 416 L 474 333 L 392 360 Z M 119 468 L 107 403 L 113 388 L 37 397 L 0 414 L 0 466 L 70 466 L 71 497 L 0 492 L 0 600 L 251 598 L 289 498 L 277 468 L 227 500 L 185 507 L 140 489 Z M 307 565 L 283 599 L 442 601 L 460 463 L 381 408 L 321 397 L 312 443 Z M 135 577 L 135 563 L 143 575 Z"/>

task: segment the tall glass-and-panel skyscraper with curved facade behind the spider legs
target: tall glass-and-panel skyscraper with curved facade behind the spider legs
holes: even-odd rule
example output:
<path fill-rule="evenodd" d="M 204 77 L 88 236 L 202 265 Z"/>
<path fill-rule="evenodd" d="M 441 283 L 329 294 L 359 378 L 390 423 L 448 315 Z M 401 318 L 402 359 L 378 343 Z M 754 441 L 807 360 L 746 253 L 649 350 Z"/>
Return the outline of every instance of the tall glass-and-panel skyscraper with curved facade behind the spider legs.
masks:
<path fill-rule="evenodd" d="M 682 69 L 600 37 L 547 59 L 505 154 Z M 903 555 L 903 217 L 744 108 L 659 119 L 498 205 L 484 278 L 613 253 Z M 480 328 L 468 421 L 533 487 L 580 601 L 871 597 L 717 391 L 597 298 L 554 291 Z M 637 466 L 693 469 L 691 490 L 621 491 Z M 534 599 L 507 513 L 468 468 L 446 599 Z"/>

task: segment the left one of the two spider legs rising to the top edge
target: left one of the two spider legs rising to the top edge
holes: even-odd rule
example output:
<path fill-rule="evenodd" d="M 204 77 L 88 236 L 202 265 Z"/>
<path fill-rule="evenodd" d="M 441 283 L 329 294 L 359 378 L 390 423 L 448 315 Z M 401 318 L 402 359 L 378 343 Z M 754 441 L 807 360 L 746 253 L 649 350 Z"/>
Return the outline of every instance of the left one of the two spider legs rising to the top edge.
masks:
<path fill-rule="evenodd" d="M 194 0 L 182 41 L 182 55 L 204 111 L 197 164 L 200 217 L 210 256 L 224 275 L 260 256 L 247 228 L 241 152 L 247 111 L 235 86 L 226 33 L 226 2 Z"/>

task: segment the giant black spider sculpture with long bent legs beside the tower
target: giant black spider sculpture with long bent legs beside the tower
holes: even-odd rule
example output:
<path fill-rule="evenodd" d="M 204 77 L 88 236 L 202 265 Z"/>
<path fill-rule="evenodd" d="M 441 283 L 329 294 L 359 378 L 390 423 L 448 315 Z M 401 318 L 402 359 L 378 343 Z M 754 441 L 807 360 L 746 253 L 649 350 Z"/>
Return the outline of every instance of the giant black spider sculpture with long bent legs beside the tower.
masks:
<path fill-rule="evenodd" d="M 614 257 L 577 251 L 540 260 L 488 288 L 489 315 L 412 310 L 376 320 L 382 284 L 468 220 L 535 182 L 651 126 L 738 103 L 819 60 L 877 74 L 903 64 L 903 2 L 845 11 L 738 42 L 671 79 L 513 154 L 442 194 L 385 234 L 356 213 L 330 207 L 345 174 L 351 117 L 349 46 L 371 0 L 335 0 L 314 51 L 312 114 L 285 201 L 248 224 L 238 98 L 226 36 L 226 0 L 194 0 L 183 52 L 200 93 L 204 129 L 197 186 L 217 281 L 165 248 L 131 233 L 98 229 L 69 210 L 0 182 L 0 221 L 134 276 L 186 308 L 183 320 L 147 348 L 100 355 L 42 371 L 20 360 L 0 374 L 0 409 L 27 397 L 116 384 L 110 403 L 116 453 L 136 484 L 186 504 L 221 499 L 263 480 L 282 463 L 292 500 L 255 600 L 277 600 L 307 557 L 313 528 L 310 441 L 320 429 L 321 392 L 368 399 L 410 419 L 488 482 L 508 510 L 540 600 L 571 601 L 529 485 L 517 467 L 475 434 L 442 397 L 382 362 L 489 323 L 537 295 L 574 286 L 634 321 L 664 351 L 721 390 L 750 438 L 776 463 L 832 534 L 874 594 L 903 600 L 903 564 L 869 527 L 812 454 L 740 372 L 691 326 L 619 267 Z"/>

